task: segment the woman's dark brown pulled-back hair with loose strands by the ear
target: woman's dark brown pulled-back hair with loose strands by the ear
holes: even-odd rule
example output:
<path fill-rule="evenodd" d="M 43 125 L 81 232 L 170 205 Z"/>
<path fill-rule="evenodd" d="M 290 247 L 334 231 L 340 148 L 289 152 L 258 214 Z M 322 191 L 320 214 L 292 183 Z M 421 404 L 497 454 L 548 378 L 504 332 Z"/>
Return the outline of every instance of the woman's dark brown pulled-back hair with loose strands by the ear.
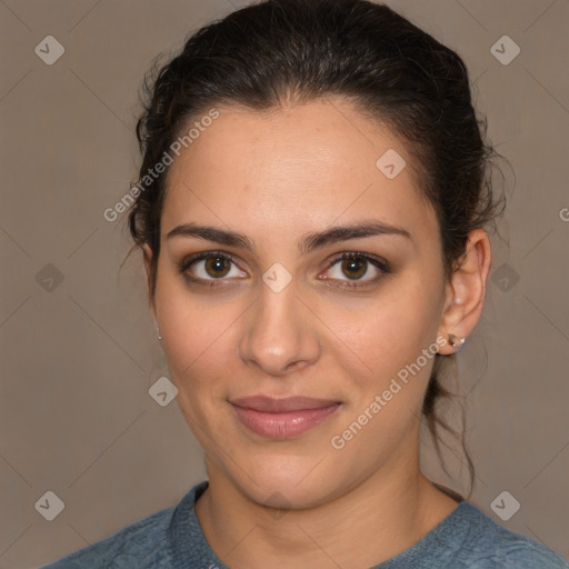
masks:
<path fill-rule="evenodd" d="M 490 166 L 498 154 L 485 141 L 486 119 L 472 106 L 462 59 L 382 4 L 267 0 L 193 33 L 167 64 L 154 63 L 144 82 L 144 110 L 137 124 L 143 154 L 140 179 L 191 120 L 214 106 L 270 111 L 328 97 L 346 98 L 406 142 L 420 173 L 420 194 L 437 213 L 450 279 L 468 233 L 493 222 L 503 210 L 505 198 L 496 199 L 490 183 Z M 167 174 L 168 169 L 147 180 L 129 212 L 134 248 L 148 243 L 153 253 L 151 296 Z M 450 396 L 440 372 L 443 359 L 452 358 L 436 356 L 422 413 L 439 457 L 438 427 L 460 438 L 470 495 L 473 468 L 463 430 L 460 437 L 436 412 L 438 401 Z"/>

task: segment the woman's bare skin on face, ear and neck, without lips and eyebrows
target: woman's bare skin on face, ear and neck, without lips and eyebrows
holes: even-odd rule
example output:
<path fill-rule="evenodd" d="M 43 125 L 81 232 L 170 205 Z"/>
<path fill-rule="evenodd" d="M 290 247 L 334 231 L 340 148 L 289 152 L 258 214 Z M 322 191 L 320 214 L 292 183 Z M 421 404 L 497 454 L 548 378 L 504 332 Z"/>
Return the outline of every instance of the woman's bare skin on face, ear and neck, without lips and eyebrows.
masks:
<path fill-rule="evenodd" d="M 231 568 L 371 567 L 457 507 L 419 469 L 418 418 L 435 359 L 341 450 L 331 438 L 439 335 L 472 331 L 491 263 L 488 236 L 470 233 L 461 267 L 445 282 L 438 222 L 417 190 L 412 158 L 347 100 L 271 113 L 219 110 L 170 169 L 150 298 L 179 407 L 206 453 L 210 486 L 197 516 Z M 376 167 L 388 149 L 408 164 L 391 180 Z M 309 232 L 369 219 L 405 228 L 411 239 L 379 234 L 299 253 Z M 189 222 L 243 233 L 254 250 L 167 239 Z M 197 261 L 187 270 L 217 288 L 179 270 L 203 251 L 234 257 L 221 269 L 207 272 Z M 392 272 L 361 259 L 356 269 L 331 267 L 346 251 L 380 257 Z M 149 278 L 151 254 L 146 246 Z M 280 292 L 262 280 L 276 262 L 292 278 Z M 356 281 L 371 284 L 340 288 L 359 269 Z M 259 393 L 341 406 L 308 432 L 274 440 L 244 428 L 228 402 Z"/>

